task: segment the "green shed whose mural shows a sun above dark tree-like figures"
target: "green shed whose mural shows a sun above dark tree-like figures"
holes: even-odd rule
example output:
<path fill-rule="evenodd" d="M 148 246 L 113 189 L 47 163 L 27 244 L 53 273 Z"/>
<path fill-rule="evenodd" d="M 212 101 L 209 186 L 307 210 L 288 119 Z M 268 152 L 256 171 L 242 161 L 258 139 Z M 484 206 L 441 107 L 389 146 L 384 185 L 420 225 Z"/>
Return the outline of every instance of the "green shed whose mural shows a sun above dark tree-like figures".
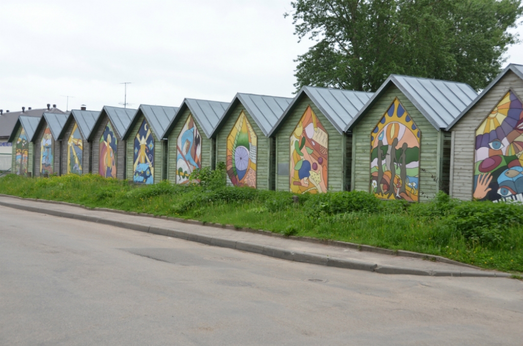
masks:
<path fill-rule="evenodd" d="M 412 202 L 448 193 L 445 129 L 476 96 L 463 83 L 389 76 L 346 128 L 353 133 L 351 189 Z"/>

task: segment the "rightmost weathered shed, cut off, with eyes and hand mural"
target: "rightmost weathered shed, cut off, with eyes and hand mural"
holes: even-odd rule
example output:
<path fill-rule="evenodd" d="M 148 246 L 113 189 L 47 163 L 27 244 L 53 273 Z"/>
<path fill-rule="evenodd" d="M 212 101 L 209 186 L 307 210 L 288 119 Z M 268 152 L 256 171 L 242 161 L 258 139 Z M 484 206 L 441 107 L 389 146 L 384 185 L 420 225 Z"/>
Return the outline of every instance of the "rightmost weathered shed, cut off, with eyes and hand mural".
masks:
<path fill-rule="evenodd" d="M 523 65 L 510 64 L 449 126 L 450 194 L 523 202 Z"/>

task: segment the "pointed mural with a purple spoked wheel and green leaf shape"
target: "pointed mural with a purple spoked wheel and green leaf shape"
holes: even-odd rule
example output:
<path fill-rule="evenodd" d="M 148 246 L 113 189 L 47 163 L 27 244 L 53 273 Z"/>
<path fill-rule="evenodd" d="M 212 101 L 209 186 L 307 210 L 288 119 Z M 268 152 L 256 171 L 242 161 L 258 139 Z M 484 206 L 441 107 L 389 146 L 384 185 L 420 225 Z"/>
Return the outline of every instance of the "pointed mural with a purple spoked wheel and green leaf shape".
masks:
<path fill-rule="evenodd" d="M 256 188 L 258 137 L 242 111 L 227 137 L 226 168 L 234 186 Z"/>

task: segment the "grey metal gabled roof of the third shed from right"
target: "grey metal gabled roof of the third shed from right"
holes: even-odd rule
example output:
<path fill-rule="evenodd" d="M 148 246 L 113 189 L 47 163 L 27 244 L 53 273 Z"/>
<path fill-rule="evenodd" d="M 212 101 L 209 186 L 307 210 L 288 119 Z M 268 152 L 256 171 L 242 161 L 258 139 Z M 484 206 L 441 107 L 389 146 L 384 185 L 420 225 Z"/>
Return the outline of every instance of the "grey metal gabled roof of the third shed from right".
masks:
<path fill-rule="evenodd" d="M 314 105 L 321 110 L 324 116 L 327 117 L 339 133 L 343 133 L 349 122 L 371 98 L 372 93 L 304 86 L 300 89 L 296 97 L 294 97 L 280 120 L 272 128 L 269 136 L 278 130 L 283 119 L 287 117 L 287 114 L 292 111 L 294 105 L 303 95 L 308 96 L 312 100 Z"/>

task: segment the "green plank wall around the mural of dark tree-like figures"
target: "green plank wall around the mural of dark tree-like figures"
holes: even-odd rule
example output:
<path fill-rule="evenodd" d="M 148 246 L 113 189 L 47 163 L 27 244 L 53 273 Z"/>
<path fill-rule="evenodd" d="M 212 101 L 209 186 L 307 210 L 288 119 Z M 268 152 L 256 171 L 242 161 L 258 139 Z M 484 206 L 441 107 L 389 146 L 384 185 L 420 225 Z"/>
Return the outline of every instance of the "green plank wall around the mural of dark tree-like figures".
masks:
<path fill-rule="evenodd" d="M 382 94 L 354 127 L 354 187 L 351 188 L 359 191 L 370 191 L 370 134 L 396 97 L 421 131 L 419 201 L 429 201 L 438 192 L 441 180 L 441 174 L 438 171 L 438 168 L 441 167 L 438 163 L 438 141 L 441 140 L 441 135 L 395 85 L 390 86 Z"/>

